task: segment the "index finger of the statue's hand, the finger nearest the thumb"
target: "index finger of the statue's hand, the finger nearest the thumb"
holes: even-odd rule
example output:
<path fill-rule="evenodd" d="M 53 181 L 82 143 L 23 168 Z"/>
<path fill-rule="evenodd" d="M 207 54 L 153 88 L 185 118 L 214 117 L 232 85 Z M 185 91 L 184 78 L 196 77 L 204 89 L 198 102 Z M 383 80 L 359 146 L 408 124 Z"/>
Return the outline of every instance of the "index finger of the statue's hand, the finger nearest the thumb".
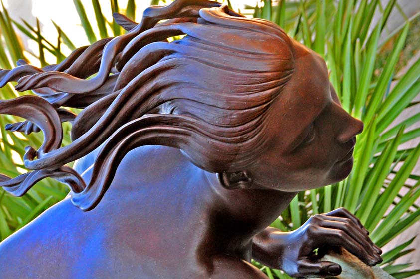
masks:
<path fill-rule="evenodd" d="M 311 226 L 309 233 L 314 244 L 318 247 L 328 245 L 344 247 L 347 251 L 369 266 L 374 266 L 382 261 L 382 259 L 371 256 L 371 253 L 369 253 L 364 246 L 360 245 L 355 239 L 351 238 L 342 230 Z M 327 239 L 328 242 L 325 242 L 325 239 Z"/>

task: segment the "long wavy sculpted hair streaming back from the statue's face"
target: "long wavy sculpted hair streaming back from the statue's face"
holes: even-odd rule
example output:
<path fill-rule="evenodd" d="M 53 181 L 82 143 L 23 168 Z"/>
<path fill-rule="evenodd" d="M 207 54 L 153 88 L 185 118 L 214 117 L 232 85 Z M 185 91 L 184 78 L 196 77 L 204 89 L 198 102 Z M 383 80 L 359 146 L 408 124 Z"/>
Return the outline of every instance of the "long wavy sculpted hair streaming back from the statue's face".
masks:
<path fill-rule="evenodd" d="M 44 133 L 38 150 L 25 149 L 31 172 L 0 175 L 9 193 L 21 196 L 52 177 L 69 185 L 76 206 L 90 210 L 136 147 L 176 147 L 211 172 L 242 170 L 261 153 L 271 104 L 294 69 L 282 29 L 206 0 L 152 6 L 140 24 L 114 16 L 126 34 L 76 49 L 57 65 L 18 61 L 0 72 L 1 87 L 18 81 L 16 90 L 37 95 L 0 101 L 0 113 L 27 119 L 6 129 Z M 185 36 L 166 40 L 178 35 Z M 83 110 L 76 116 L 61 107 Z M 72 143 L 61 147 L 64 121 L 73 122 Z M 65 164 L 101 144 L 86 185 Z"/>

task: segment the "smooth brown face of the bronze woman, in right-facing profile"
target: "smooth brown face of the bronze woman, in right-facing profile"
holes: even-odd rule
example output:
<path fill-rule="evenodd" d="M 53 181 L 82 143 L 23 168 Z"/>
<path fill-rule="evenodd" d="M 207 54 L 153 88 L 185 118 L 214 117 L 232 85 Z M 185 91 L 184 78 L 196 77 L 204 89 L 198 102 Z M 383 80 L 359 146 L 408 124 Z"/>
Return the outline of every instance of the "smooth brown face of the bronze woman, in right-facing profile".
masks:
<path fill-rule="evenodd" d="M 298 42 L 295 70 L 269 112 L 265 152 L 249 169 L 254 185 L 296 191 L 346 178 L 363 123 L 340 104 L 324 60 Z"/>

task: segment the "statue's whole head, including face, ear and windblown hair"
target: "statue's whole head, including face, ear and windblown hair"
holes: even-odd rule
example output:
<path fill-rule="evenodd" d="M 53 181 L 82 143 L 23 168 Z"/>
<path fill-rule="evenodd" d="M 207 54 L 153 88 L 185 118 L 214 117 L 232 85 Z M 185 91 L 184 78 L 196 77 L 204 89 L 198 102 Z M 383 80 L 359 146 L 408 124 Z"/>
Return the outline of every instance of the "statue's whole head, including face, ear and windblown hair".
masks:
<path fill-rule="evenodd" d="M 274 23 L 190 2 L 152 7 L 139 25 L 119 17 L 127 34 L 40 73 L 15 71 L 24 76 L 17 89 L 35 89 L 50 110 L 84 108 L 73 143 L 29 150 L 25 165 L 59 170 L 105 142 L 90 185 L 73 186 L 73 202 L 85 210 L 100 201 L 123 156 L 150 144 L 180 148 L 228 188 L 296 191 L 344 179 L 363 125 L 341 108 L 324 60 Z M 156 25 L 161 19 L 170 21 Z M 186 36 L 164 41 L 178 35 Z"/>

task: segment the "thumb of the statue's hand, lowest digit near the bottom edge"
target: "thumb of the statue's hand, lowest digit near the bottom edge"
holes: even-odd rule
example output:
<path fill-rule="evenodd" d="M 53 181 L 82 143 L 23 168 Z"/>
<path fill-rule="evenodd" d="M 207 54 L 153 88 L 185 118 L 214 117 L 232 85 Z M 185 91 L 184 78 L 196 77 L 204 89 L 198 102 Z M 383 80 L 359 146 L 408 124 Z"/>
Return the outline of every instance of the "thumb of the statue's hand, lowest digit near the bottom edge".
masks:
<path fill-rule="evenodd" d="M 297 265 L 298 274 L 292 275 L 296 278 L 330 277 L 341 273 L 340 265 L 329 261 L 312 262 L 305 259 L 300 260 Z"/>

